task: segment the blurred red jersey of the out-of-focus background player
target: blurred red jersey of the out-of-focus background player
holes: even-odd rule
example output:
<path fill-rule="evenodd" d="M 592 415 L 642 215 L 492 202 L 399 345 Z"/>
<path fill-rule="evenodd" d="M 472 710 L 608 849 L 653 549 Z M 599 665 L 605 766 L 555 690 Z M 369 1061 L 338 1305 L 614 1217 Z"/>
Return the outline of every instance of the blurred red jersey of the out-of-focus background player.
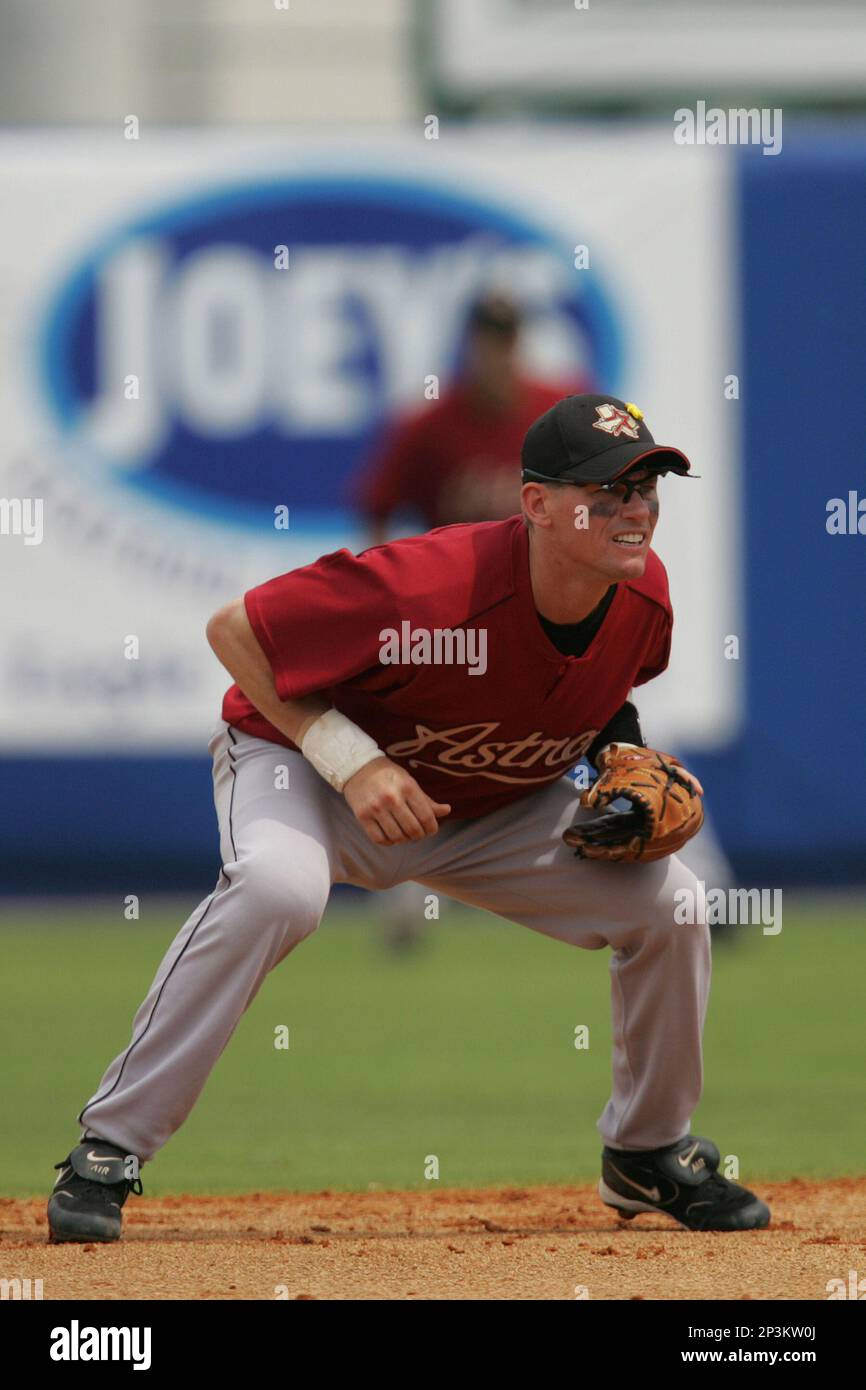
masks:
<path fill-rule="evenodd" d="M 520 509 L 524 435 L 574 389 L 520 378 L 509 407 L 493 410 L 467 386 L 453 386 L 393 427 L 382 455 L 356 484 L 360 510 L 385 521 L 411 509 L 428 527 L 513 516 Z"/>

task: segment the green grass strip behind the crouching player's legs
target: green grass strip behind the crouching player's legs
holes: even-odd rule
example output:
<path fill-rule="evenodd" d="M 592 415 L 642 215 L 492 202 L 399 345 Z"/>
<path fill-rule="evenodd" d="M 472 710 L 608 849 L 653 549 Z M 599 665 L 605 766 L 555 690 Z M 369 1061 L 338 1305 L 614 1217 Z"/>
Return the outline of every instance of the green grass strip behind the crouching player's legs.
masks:
<path fill-rule="evenodd" d="M 50 1184 L 192 906 L 143 903 L 140 923 L 114 905 L 0 916 L 6 1195 Z M 392 955 L 377 899 L 343 899 L 270 976 L 146 1191 L 421 1187 L 430 1154 L 449 1187 L 592 1180 L 607 960 L 453 905 Z M 745 927 L 716 951 L 692 1127 L 738 1155 L 744 1182 L 866 1169 L 865 976 L 866 908 L 851 901 L 787 895 L 780 935 Z"/>

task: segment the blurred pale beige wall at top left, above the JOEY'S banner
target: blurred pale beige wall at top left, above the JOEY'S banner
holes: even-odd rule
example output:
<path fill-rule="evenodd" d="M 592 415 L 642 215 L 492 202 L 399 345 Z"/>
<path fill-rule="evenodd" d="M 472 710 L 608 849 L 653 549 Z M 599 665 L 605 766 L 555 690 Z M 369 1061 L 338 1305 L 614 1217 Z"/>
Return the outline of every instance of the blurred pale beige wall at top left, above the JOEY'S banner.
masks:
<path fill-rule="evenodd" d="M 0 120 L 391 122 L 410 0 L 0 0 Z"/>

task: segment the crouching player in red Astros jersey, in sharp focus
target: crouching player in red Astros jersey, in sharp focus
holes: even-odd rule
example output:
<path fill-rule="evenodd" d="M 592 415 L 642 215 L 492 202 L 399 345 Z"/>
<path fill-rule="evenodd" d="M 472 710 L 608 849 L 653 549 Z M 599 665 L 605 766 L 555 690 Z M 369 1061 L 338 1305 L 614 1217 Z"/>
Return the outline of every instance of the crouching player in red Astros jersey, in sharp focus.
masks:
<path fill-rule="evenodd" d="M 644 746 L 628 695 L 667 663 L 651 549 L 657 478 L 688 459 L 642 411 L 567 396 L 528 430 L 521 514 L 327 555 L 217 613 L 231 673 L 213 738 L 222 867 L 170 947 L 129 1045 L 58 1163 L 53 1240 L 115 1240 L 243 1011 L 331 884 L 413 880 L 588 951 L 609 947 L 613 1087 L 602 1200 L 689 1230 L 766 1226 L 689 1131 L 702 1086 L 706 924 L 676 849 L 702 790 Z M 578 794 L 582 755 L 599 770 Z M 285 787 L 282 767 L 289 769 Z M 680 899 L 681 901 L 681 899 Z"/>

